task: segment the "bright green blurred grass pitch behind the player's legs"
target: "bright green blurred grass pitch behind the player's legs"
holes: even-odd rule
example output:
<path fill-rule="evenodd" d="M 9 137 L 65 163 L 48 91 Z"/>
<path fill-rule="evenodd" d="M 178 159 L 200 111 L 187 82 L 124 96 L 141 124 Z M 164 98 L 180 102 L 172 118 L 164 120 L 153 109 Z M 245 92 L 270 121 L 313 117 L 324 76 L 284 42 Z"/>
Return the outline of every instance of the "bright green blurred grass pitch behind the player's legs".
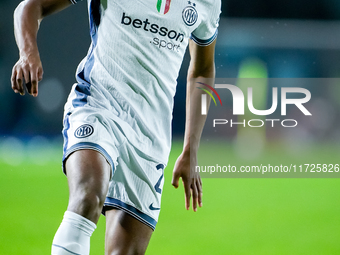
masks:
<path fill-rule="evenodd" d="M 184 208 L 182 186 L 171 186 L 181 146 L 173 144 L 147 254 L 340 254 L 340 179 L 203 179 L 203 207 L 194 213 Z M 7 150 L 12 163 L 0 163 L 0 254 L 50 254 L 68 199 L 60 148 Z M 330 159 L 329 151 L 315 153 Z M 292 160 L 279 150 L 266 157 Z M 104 233 L 101 216 L 91 254 L 104 254 Z"/>

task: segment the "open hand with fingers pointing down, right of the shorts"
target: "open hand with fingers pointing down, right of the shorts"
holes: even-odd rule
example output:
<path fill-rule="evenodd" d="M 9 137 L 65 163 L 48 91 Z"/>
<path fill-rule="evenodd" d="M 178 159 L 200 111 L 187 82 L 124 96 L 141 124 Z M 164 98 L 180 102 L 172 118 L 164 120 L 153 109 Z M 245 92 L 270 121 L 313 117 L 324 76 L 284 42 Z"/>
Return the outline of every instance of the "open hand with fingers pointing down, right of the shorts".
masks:
<path fill-rule="evenodd" d="M 197 165 L 196 155 L 190 157 L 190 152 L 182 153 L 174 167 L 172 185 L 178 188 L 179 178 L 182 178 L 185 192 L 185 208 L 190 208 L 190 198 L 192 196 L 193 210 L 197 211 L 197 204 L 202 207 L 202 180 L 198 172 L 195 171 Z"/>

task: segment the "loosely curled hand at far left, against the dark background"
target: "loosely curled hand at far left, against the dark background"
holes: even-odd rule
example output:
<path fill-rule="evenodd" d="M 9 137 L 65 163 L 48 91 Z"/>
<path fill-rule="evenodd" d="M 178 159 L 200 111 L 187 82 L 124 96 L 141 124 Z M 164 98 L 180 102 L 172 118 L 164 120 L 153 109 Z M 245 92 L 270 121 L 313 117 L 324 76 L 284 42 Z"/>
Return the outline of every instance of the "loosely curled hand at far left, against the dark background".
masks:
<path fill-rule="evenodd" d="M 12 69 L 12 89 L 25 95 L 25 88 L 32 96 L 38 95 L 38 82 L 42 80 L 43 69 L 38 52 L 23 54 Z"/>

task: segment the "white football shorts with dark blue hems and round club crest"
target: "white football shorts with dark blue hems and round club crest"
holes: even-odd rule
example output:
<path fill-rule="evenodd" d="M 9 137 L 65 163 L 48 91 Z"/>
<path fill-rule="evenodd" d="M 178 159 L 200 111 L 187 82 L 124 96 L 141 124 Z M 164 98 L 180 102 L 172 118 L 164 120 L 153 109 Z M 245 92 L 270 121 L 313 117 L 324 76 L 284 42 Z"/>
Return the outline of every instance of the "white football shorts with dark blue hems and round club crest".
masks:
<path fill-rule="evenodd" d="M 79 98 L 76 90 L 77 84 L 65 105 L 63 166 L 74 151 L 91 149 L 101 153 L 112 169 L 103 214 L 110 208 L 120 209 L 155 229 L 165 164 L 156 162 L 126 139 L 114 111 L 88 104 L 91 100 L 74 103 Z"/>

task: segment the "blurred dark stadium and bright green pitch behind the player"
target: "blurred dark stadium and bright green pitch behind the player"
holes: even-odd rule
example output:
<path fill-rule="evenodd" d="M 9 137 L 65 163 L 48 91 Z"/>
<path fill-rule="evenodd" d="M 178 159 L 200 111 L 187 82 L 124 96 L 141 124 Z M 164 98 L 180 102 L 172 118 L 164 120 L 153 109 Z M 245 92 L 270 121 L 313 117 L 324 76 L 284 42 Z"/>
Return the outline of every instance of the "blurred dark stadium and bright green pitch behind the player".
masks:
<path fill-rule="evenodd" d="M 68 196 L 60 169 L 63 104 L 89 46 L 88 18 L 83 2 L 44 20 L 39 97 L 20 97 L 10 86 L 18 3 L 0 2 L 0 254 L 49 254 Z M 222 0 L 222 11 L 217 77 L 237 77 L 249 63 L 267 78 L 340 77 L 338 0 Z M 338 179 L 205 179 L 204 207 L 195 214 L 184 210 L 183 189 L 175 191 L 170 180 L 183 136 L 188 61 L 178 79 L 160 223 L 147 254 L 340 254 Z M 331 124 L 308 123 L 291 137 L 304 147 L 275 144 L 261 159 L 340 163 L 340 84 L 311 90 L 313 96 L 326 93 L 313 107 Z M 232 140 L 226 144 L 226 157 L 246 160 L 235 147 Z M 104 225 L 101 218 L 91 254 L 103 254 Z"/>

